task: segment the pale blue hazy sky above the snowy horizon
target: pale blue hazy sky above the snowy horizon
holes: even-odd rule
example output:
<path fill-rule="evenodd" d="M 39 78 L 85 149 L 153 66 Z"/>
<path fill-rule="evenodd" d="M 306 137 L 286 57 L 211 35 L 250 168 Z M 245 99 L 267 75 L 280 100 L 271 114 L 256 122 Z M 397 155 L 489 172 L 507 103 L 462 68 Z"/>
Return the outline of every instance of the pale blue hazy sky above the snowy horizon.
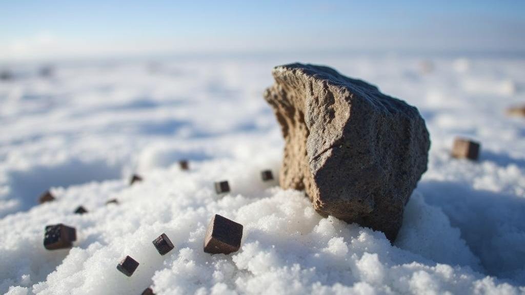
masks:
<path fill-rule="evenodd" d="M 525 1 L 0 2 L 0 59 L 525 49 Z"/>

